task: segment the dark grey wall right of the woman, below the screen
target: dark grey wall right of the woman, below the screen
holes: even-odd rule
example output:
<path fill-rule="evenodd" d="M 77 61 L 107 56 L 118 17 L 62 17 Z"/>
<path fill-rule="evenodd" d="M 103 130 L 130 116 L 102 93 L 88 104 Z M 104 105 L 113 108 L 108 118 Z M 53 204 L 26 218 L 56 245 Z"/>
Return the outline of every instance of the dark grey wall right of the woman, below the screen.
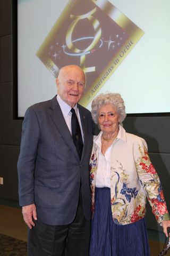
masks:
<path fill-rule="evenodd" d="M 168 210 L 170 211 L 170 116 L 127 117 L 124 121 L 124 127 L 126 131 L 137 134 L 147 141 L 149 156 L 162 182 Z M 151 207 L 149 204 L 147 206 L 147 227 L 162 230 L 151 213 Z"/>

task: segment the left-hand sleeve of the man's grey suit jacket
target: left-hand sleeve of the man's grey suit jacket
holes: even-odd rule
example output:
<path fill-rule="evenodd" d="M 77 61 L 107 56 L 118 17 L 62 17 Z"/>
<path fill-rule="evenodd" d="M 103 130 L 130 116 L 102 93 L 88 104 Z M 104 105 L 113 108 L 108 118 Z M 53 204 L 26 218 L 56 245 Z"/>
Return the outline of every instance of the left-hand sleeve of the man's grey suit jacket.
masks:
<path fill-rule="evenodd" d="M 25 113 L 22 124 L 20 155 L 18 160 L 19 201 L 20 205 L 34 203 L 34 171 L 40 127 L 32 107 Z"/>

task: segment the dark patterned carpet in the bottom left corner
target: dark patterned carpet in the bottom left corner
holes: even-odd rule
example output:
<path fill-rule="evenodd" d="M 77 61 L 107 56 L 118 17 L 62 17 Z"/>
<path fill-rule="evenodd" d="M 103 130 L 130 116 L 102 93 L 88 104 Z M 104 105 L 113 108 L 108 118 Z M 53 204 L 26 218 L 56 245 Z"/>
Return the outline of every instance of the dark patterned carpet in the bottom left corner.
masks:
<path fill-rule="evenodd" d="M 27 256 L 27 242 L 0 234 L 1 256 Z"/>

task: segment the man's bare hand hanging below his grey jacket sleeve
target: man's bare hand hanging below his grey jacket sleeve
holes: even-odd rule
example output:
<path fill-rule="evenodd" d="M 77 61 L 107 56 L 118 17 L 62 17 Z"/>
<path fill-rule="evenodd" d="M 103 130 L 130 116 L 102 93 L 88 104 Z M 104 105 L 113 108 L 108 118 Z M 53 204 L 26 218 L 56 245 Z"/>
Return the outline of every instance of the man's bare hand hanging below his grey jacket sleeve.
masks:
<path fill-rule="evenodd" d="M 33 219 L 37 220 L 37 211 L 36 211 L 36 205 L 30 204 L 22 206 L 22 214 L 23 219 L 27 226 L 31 229 L 35 226 L 35 223 L 33 222 Z M 33 218 L 33 219 L 32 219 Z"/>

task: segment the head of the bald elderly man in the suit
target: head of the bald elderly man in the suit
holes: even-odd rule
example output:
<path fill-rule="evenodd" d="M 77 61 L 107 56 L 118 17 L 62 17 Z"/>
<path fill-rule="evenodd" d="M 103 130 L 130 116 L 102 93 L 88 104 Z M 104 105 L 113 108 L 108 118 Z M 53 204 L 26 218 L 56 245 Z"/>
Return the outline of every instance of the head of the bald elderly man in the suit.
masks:
<path fill-rule="evenodd" d="M 81 68 L 66 66 L 56 78 L 57 93 L 70 107 L 80 101 L 84 92 L 86 78 Z"/>

